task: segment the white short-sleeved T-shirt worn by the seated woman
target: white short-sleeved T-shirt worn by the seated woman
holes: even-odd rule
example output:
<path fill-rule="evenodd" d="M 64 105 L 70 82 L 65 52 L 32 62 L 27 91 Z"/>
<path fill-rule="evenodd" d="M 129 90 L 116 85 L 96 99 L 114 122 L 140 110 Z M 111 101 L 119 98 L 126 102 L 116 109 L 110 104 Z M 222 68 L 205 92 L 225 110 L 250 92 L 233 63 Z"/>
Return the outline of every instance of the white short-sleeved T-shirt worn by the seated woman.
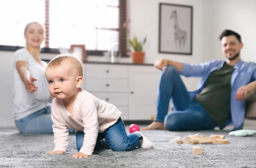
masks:
<path fill-rule="evenodd" d="M 31 77 L 38 80 L 34 81 L 38 91 L 29 93 L 26 90 L 25 84 L 20 78 L 16 69 L 17 61 L 26 61 L 29 67 Z M 38 110 L 50 106 L 51 98 L 49 86 L 45 77 L 45 68 L 47 63 L 42 61 L 39 64 L 35 58 L 26 50 L 26 48 L 18 49 L 12 58 L 12 79 L 13 79 L 13 115 L 15 120 L 23 119 Z"/>

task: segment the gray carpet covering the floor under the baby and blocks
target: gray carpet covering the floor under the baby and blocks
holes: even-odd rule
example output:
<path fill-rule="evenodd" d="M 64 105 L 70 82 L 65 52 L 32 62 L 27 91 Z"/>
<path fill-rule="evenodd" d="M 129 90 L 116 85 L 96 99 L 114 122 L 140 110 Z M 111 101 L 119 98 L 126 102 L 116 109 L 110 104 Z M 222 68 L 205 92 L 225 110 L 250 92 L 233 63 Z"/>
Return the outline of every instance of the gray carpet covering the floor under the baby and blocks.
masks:
<path fill-rule="evenodd" d="M 16 133 L 15 133 L 16 132 Z M 228 136 L 224 131 L 170 132 L 164 130 L 142 131 L 153 149 L 129 152 L 99 151 L 89 158 L 73 159 L 76 139 L 69 136 L 69 147 L 62 155 L 45 154 L 52 151 L 52 135 L 18 134 L 16 130 L 0 130 L 0 168 L 255 168 L 256 135 L 250 137 Z M 12 134 L 14 133 L 14 134 Z M 200 133 L 224 134 L 229 144 L 174 145 L 171 139 Z M 202 147 L 203 155 L 193 155 L 192 147 Z"/>

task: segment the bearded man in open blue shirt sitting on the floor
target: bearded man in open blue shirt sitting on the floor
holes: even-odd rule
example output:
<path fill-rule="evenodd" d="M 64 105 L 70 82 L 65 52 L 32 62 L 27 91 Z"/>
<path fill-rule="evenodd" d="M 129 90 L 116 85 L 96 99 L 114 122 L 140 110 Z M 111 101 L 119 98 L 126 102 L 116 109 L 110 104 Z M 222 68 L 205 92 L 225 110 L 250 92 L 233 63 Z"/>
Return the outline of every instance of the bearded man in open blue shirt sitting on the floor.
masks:
<path fill-rule="evenodd" d="M 186 64 L 158 59 L 154 66 L 162 70 L 157 96 L 157 115 L 143 130 L 212 130 L 234 125 L 243 127 L 247 93 L 256 89 L 256 64 L 240 59 L 241 36 L 224 30 L 220 37 L 225 60 Z M 201 77 L 198 90 L 188 92 L 180 75 Z M 168 113 L 172 99 L 174 112 Z"/>

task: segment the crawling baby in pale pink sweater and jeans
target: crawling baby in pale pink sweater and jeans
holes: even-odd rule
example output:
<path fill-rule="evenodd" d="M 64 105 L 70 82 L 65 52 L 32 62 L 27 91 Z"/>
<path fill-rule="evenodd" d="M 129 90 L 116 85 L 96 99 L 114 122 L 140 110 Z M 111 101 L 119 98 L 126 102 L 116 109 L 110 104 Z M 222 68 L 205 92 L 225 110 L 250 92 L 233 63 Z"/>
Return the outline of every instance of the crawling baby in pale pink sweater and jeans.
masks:
<path fill-rule="evenodd" d="M 71 55 L 58 55 L 45 70 L 52 100 L 54 150 L 63 154 L 68 146 L 68 130 L 76 130 L 78 153 L 73 158 L 89 157 L 107 142 L 112 151 L 131 151 L 137 147 L 152 148 L 152 143 L 139 131 L 128 134 L 121 112 L 113 104 L 81 89 L 83 68 Z"/>

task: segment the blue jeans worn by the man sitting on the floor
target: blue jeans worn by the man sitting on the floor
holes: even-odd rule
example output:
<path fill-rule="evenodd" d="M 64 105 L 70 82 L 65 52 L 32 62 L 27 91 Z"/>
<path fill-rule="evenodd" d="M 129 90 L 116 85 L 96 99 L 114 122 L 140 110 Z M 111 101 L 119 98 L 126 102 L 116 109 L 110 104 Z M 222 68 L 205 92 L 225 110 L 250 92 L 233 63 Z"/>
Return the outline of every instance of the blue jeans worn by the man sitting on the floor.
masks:
<path fill-rule="evenodd" d="M 175 111 L 167 114 L 171 99 Z M 164 67 L 161 72 L 156 110 L 154 121 L 163 122 L 166 130 L 212 130 L 216 126 L 204 108 L 189 96 L 173 66 Z"/>

